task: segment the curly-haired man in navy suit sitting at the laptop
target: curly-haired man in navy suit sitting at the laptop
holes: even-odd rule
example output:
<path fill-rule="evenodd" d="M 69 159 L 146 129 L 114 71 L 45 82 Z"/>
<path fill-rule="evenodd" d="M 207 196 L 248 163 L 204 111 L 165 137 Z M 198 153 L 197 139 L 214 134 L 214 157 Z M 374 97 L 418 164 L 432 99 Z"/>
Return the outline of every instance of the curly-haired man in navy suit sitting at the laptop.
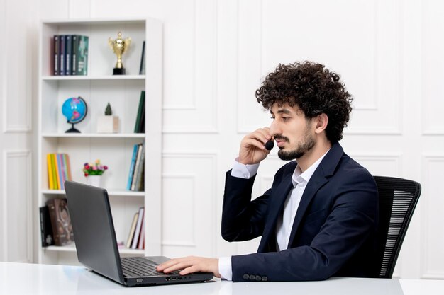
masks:
<path fill-rule="evenodd" d="M 313 62 L 279 64 L 256 97 L 270 110 L 272 124 L 243 138 L 226 174 L 222 236 L 262 236 L 257 253 L 177 258 L 158 270 L 207 271 L 233 282 L 377 277 L 377 187 L 338 143 L 353 100 L 339 76 Z M 272 139 L 279 158 L 296 161 L 282 166 L 272 187 L 251 200 Z"/>

